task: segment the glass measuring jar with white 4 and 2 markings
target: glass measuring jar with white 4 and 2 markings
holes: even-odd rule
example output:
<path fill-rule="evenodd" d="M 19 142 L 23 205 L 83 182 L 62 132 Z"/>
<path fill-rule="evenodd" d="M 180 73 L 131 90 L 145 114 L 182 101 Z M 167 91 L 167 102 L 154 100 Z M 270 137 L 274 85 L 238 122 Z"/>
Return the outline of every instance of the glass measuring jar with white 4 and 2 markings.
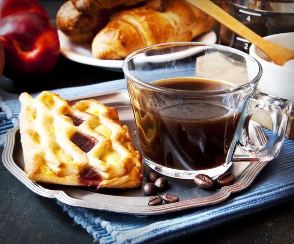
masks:
<path fill-rule="evenodd" d="M 261 37 L 294 32 L 294 0 L 223 0 L 222 8 Z M 249 53 L 251 43 L 224 25 L 219 44 Z"/>

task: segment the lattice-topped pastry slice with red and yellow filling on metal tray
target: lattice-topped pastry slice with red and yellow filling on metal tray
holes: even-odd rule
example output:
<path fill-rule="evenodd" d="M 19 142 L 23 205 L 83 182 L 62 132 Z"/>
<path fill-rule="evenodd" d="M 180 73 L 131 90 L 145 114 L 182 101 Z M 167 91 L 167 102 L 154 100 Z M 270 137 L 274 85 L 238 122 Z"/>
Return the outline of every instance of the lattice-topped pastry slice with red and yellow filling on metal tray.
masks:
<path fill-rule="evenodd" d="M 133 188 L 142 184 L 142 156 L 115 108 L 96 100 L 70 105 L 58 94 L 24 92 L 20 133 L 25 173 L 38 182 Z"/>

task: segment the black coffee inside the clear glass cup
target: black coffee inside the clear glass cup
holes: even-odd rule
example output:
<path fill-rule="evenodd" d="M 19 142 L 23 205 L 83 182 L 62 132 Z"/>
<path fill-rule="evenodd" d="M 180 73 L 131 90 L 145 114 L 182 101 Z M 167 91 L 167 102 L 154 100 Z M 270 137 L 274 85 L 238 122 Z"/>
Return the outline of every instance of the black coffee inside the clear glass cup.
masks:
<path fill-rule="evenodd" d="M 167 92 L 232 88 L 227 83 L 199 78 L 166 79 L 152 85 L 167 88 Z M 207 98 L 207 94 L 206 100 L 171 94 L 172 99 L 162 101 L 158 94 L 141 90 L 137 94 L 139 106 L 132 104 L 145 157 L 178 170 L 203 170 L 224 164 L 240 113 L 224 107 L 221 100 Z"/>

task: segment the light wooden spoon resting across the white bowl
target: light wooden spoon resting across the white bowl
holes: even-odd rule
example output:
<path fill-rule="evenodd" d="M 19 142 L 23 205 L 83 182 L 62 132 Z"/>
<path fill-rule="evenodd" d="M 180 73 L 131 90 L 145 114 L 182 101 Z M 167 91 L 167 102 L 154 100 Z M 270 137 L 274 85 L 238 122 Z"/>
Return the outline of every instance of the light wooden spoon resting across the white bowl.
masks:
<path fill-rule="evenodd" d="M 216 21 L 222 23 L 224 26 L 234 31 L 241 37 L 248 40 L 251 44 L 255 44 L 264 53 L 266 53 L 270 59 L 276 64 L 283 66 L 289 60 L 294 59 L 294 51 L 288 48 L 273 44 L 255 32 L 246 27 L 243 23 L 236 20 L 227 12 L 222 10 L 218 5 L 210 0 L 187 0 L 203 12 L 212 16 Z"/>

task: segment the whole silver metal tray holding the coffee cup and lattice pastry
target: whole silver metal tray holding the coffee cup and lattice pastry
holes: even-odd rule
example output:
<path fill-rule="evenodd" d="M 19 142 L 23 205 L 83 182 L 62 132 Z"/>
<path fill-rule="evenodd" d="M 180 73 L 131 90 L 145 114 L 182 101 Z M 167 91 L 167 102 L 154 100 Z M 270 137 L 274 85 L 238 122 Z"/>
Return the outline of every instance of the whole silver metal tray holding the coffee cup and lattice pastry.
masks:
<path fill-rule="evenodd" d="M 107 106 L 115 107 L 119 113 L 120 120 L 129 127 L 136 148 L 141 151 L 127 90 L 75 97 L 70 100 L 78 101 L 88 98 L 94 98 Z M 266 143 L 267 138 L 262 127 L 258 123 L 250 121 L 249 133 L 251 140 L 256 145 L 264 145 Z M 149 197 L 144 194 L 143 187 L 134 189 L 102 189 L 101 192 L 95 193 L 82 187 L 36 183 L 29 180 L 24 172 L 25 164 L 19 126 L 12 128 L 7 133 L 2 161 L 12 175 L 24 183 L 27 188 L 40 196 L 56 198 L 72 206 L 144 216 L 165 214 L 173 211 L 220 203 L 228 199 L 232 193 L 240 192 L 249 187 L 267 165 L 267 162 L 234 163 L 229 170 L 236 177 L 235 183 L 231 186 L 213 190 L 205 190 L 197 187 L 194 180 L 166 177 L 171 187 L 164 193 L 175 194 L 179 197 L 180 201 L 169 204 L 163 202 L 159 206 L 148 206 L 147 200 Z M 152 169 L 147 166 L 144 160 L 142 163 L 144 175 L 142 186 L 144 186 L 147 182 L 146 176 Z"/>

